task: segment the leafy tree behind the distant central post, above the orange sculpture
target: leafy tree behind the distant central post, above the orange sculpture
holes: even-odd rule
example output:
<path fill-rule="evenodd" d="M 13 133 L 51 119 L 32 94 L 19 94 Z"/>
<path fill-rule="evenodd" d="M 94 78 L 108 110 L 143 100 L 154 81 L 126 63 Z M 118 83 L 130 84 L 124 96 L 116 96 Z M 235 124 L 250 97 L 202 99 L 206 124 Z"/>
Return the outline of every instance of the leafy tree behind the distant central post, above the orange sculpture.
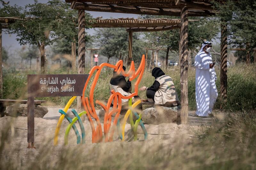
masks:
<path fill-rule="evenodd" d="M 129 35 L 125 28 L 98 28 L 96 29 L 96 37 L 100 54 L 108 57 L 127 58 L 128 57 L 128 40 Z M 133 59 L 139 59 L 144 50 L 141 46 L 143 42 L 140 40 L 139 33 L 132 34 L 132 54 Z"/>

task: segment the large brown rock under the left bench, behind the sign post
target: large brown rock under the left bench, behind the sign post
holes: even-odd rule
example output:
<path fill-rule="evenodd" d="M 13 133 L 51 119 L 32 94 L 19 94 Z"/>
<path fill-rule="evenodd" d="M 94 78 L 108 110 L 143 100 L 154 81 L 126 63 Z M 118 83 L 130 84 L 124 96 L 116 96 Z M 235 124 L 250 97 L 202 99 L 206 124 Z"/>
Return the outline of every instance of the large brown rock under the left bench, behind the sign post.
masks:
<path fill-rule="evenodd" d="M 44 107 L 41 105 L 37 105 L 36 107 L 34 107 L 35 117 L 43 118 L 47 112 L 48 112 L 47 107 Z M 6 116 L 12 116 L 12 117 L 17 117 L 17 116 L 27 117 L 28 116 L 28 105 L 20 104 L 20 103 L 13 104 L 6 108 L 6 110 L 4 111 L 4 114 Z"/>

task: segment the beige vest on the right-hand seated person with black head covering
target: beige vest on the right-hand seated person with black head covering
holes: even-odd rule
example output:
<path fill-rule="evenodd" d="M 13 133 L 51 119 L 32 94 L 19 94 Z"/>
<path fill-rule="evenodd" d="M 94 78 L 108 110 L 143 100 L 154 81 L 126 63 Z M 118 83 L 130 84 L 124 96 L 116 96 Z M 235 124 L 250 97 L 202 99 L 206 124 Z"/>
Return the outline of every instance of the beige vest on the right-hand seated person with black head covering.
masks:
<path fill-rule="evenodd" d="M 166 102 L 180 101 L 170 76 L 160 76 L 156 78 L 156 81 L 159 82 L 160 86 L 155 94 L 155 105 L 163 105 Z"/>

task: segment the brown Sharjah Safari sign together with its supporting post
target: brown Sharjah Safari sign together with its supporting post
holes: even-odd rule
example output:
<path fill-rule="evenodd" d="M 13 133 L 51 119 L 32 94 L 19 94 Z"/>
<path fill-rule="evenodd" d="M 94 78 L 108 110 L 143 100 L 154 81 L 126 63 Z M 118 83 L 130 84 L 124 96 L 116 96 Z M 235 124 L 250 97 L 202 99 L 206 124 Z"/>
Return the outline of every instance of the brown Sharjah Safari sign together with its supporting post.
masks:
<path fill-rule="evenodd" d="M 35 97 L 82 96 L 88 74 L 28 74 L 28 148 L 35 142 Z"/>

